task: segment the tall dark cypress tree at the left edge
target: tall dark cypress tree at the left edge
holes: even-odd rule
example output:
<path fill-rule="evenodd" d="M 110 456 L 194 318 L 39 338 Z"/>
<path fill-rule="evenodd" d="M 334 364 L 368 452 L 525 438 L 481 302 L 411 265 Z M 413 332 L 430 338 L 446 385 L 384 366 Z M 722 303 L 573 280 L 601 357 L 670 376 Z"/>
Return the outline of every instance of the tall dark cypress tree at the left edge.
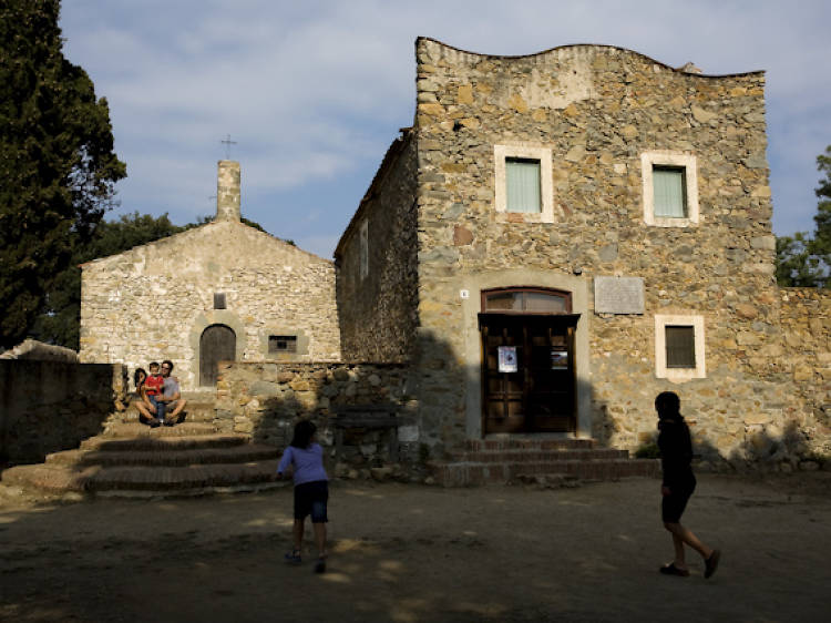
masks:
<path fill-rule="evenodd" d="M 126 176 L 106 100 L 63 57 L 59 14 L 59 0 L 0 3 L 0 348 L 28 335 Z"/>

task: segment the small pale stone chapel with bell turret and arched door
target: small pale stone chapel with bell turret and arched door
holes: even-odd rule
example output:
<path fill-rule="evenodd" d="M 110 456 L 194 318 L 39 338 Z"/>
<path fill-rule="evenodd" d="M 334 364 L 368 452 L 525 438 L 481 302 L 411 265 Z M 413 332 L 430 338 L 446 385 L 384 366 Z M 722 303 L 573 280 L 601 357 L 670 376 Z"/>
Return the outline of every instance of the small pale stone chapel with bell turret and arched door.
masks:
<path fill-rule="evenodd" d="M 183 389 L 217 362 L 340 358 L 331 262 L 240 222 L 239 164 L 218 163 L 212 223 L 82 266 L 82 361 L 171 359 Z"/>

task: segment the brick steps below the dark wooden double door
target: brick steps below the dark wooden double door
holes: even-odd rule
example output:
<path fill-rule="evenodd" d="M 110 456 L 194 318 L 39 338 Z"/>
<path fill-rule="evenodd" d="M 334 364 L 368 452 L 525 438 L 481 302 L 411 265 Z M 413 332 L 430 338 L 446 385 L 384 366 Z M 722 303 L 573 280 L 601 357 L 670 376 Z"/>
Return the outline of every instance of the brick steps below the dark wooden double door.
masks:
<path fill-rule="evenodd" d="M 617 480 L 658 477 L 657 459 L 630 459 L 626 450 L 598 448 L 594 439 L 469 440 L 450 460 L 432 461 L 433 479 L 443 487 L 527 481 Z"/>

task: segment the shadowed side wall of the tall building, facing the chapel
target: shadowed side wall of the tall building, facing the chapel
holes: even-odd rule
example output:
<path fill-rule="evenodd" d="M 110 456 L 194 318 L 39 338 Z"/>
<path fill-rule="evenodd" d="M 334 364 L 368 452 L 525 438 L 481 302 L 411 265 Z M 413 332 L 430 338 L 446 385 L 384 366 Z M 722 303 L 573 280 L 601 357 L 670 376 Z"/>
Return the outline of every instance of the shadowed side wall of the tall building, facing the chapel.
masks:
<path fill-rule="evenodd" d="M 416 141 L 390 147 L 363 202 L 338 244 L 341 349 L 350 361 L 404 361 L 418 319 Z M 368 266 L 361 276 L 361 227 Z"/>

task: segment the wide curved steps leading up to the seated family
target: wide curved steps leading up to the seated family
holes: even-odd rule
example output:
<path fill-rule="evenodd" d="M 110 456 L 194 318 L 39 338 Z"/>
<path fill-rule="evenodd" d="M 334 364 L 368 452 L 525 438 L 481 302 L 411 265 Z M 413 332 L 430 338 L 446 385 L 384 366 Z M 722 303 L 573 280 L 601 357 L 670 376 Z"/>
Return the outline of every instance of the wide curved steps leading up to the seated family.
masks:
<path fill-rule="evenodd" d="M 147 498 L 281 486 L 275 473 L 277 448 L 224 430 L 227 427 L 215 419 L 212 396 L 185 398 L 185 420 L 174 427 L 144 426 L 131 406 L 112 415 L 104 431 L 76 450 L 54 452 L 40 464 L 7 469 L 2 483 L 48 494 Z"/>

